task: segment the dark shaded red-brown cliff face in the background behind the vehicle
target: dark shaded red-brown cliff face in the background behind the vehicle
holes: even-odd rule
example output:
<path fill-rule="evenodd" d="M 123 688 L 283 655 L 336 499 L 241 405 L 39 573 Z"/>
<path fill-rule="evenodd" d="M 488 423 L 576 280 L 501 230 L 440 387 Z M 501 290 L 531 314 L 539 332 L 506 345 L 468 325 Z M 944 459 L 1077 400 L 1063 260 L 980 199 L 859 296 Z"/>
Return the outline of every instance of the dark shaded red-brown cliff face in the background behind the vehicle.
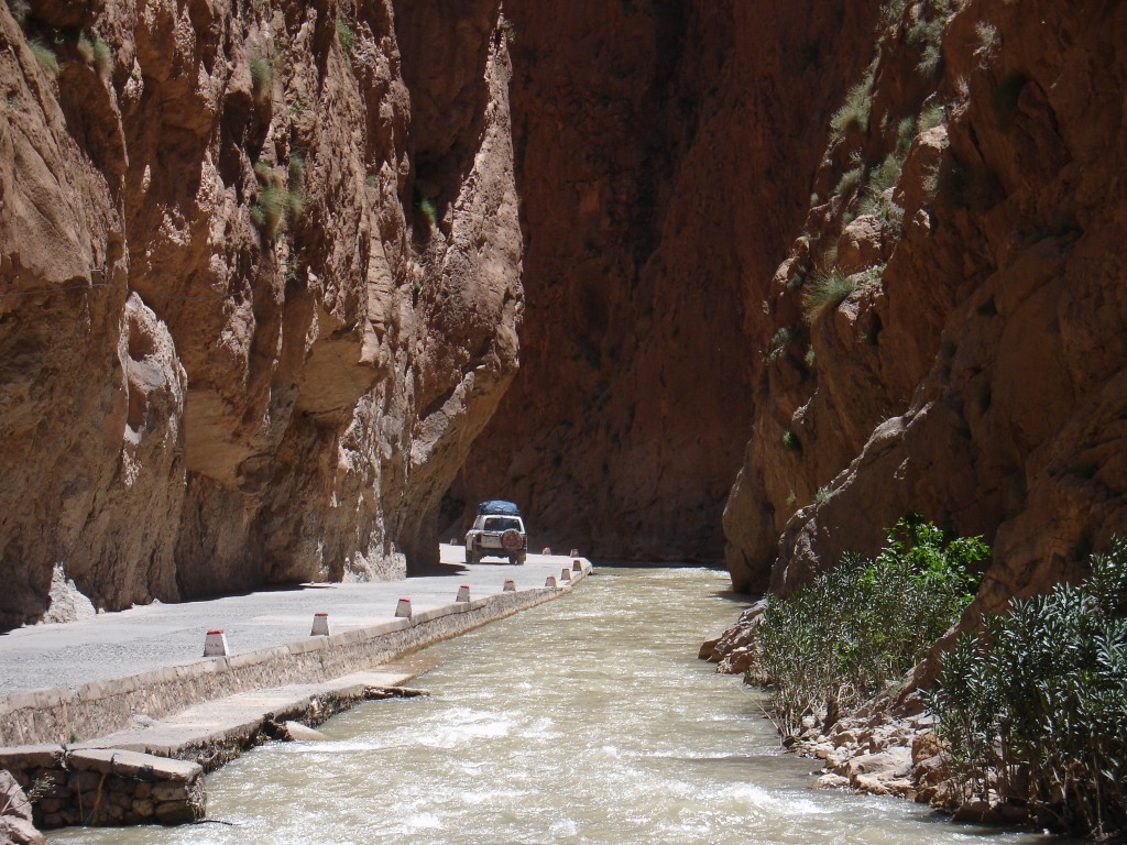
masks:
<path fill-rule="evenodd" d="M 766 281 L 867 6 L 506 2 L 529 310 L 451 531 L 505 496 L 536 546 L 720 559 Z"/>

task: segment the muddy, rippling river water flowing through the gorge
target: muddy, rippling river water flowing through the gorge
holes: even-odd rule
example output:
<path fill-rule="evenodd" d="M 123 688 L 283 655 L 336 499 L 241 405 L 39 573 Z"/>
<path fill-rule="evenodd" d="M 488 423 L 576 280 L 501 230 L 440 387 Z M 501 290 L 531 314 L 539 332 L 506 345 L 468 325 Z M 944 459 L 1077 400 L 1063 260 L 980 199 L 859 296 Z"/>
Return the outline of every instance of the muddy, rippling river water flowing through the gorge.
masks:
<path fill-rule="evenodd" d="M 809 789 L 757 694 L 696 660 L 742 605 L 724 572 L 601 567 L 575 594 L 423 652 L 429 699 L 372 702 L 207 777 L 180 828 L 52 842 L 1041 843 Z"/>

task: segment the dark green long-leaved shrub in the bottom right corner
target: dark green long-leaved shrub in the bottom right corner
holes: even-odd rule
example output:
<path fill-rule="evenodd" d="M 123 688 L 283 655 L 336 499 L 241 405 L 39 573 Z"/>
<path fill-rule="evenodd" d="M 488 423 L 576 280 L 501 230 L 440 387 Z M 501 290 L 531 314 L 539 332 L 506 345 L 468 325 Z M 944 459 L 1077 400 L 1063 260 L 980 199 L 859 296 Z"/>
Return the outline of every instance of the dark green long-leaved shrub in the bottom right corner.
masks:
<path fill-rule="evenodd" d="M 928 706 L 967 797 L 1099 838 L 1127 831 L 1127 539 L 1090 564 L 961 635 Z"/>

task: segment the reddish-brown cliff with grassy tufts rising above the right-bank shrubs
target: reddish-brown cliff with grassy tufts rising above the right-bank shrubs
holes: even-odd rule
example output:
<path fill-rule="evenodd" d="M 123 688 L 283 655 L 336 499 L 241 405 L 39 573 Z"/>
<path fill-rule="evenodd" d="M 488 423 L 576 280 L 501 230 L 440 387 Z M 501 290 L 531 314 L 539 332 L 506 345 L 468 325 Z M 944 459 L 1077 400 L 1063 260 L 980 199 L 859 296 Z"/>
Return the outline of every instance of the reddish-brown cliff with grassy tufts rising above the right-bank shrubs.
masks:
<path fill-rule="evenodd" d="M 772 282 L 789 335 L 757 388 L 728 562 L 739 587 L 787 590 L 919 509 L 985 535 L 973 611 L 1000 611 L 1127 517 L 1127 8 L 929 2 L 873 24 L 868 119 L 826 150 Z M 882 175 L 889 155 L 903 168 Z M 834 270 L 857 290 L 804 317 Z"/>

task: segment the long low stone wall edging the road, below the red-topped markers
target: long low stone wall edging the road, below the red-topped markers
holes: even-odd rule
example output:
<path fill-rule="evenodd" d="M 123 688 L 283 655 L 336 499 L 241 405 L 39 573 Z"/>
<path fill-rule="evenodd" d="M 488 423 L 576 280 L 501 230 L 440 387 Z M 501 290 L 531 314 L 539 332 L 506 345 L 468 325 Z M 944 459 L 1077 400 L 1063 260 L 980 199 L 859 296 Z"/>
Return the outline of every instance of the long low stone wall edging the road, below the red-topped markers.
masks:
<path fill-rule="evenodd" d="M 589 567 L 577 572 L 570 585 L 588 571 Z M 73 690 L 39 690 L 5 696 L 0 699 L 0 746 L 91 739 L 132 727 L 134 713 L 160 719 L 192 704 L 250 690 L 328 681 L 542 604 L 570 590 L 570 585 L 500 593 L 331 637 L 310 637 L 289 646 L 231 657 L 203 658 Z"/>

